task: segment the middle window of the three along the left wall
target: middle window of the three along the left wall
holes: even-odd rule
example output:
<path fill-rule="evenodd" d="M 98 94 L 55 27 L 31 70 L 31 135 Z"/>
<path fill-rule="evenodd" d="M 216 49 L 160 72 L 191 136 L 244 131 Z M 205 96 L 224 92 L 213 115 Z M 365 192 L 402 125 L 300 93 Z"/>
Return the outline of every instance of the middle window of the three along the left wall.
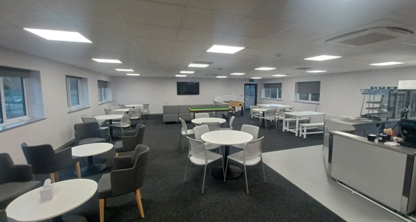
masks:
<path fill-rule="evenodd" d="M 89 107 L 87 78 L 67 76 L 67 99 L 69 111 Z"/>

